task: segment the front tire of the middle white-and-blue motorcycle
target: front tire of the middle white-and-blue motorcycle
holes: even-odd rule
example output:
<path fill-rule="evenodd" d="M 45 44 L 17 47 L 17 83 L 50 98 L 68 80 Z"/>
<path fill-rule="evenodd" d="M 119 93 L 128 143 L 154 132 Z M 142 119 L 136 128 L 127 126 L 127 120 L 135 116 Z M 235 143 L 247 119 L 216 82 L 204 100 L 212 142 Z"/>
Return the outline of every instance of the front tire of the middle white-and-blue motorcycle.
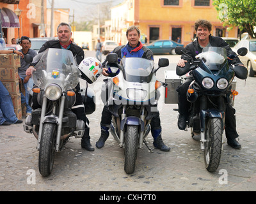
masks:
<path fill-rule="evenodd" d="M 133 173 L 138 152 L 139 131 L 138 126 L 127 126 L 125 134 L 124 170 Z"/>

